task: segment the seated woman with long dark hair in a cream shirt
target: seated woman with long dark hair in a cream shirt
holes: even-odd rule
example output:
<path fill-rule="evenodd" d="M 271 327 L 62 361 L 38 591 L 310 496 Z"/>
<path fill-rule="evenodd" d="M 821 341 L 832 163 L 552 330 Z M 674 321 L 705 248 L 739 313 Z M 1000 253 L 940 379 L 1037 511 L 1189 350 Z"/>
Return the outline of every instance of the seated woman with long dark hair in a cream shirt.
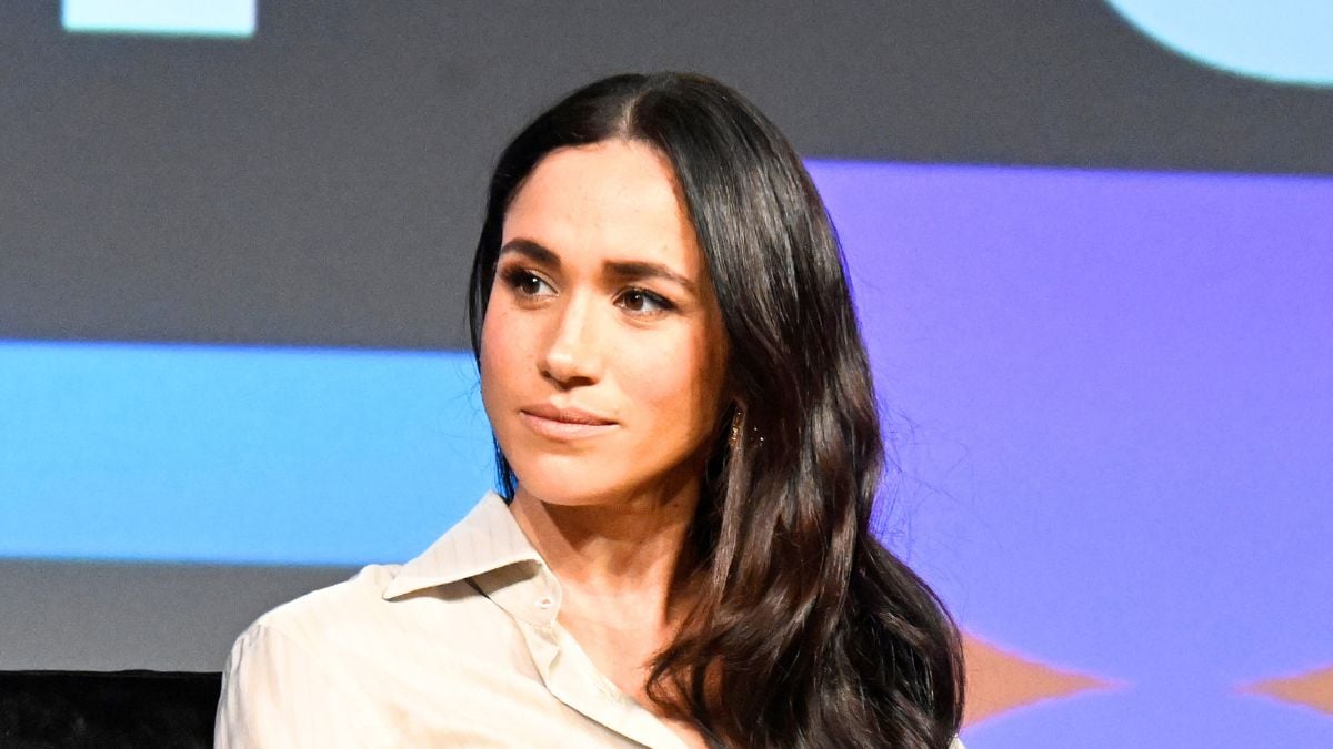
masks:
<path fill-rule="evenodd" d="M 539 116 L 469 315 L 503 497 L 256 622 L 219 745 L 949 745 L 957 633 L 868 529 L 841 253 L 753 105 L 627 75 Z"/>

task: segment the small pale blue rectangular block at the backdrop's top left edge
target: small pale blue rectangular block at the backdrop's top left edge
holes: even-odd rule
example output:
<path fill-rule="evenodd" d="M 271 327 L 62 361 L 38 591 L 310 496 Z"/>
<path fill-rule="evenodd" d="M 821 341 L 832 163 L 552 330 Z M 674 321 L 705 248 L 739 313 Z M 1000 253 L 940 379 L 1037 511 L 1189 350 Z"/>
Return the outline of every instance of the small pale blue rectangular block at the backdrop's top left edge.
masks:
<path fill-rule="evenodd" d="M 65 31 L 164 36 L 255 36 L 257 0 L 64 0 Z"/>

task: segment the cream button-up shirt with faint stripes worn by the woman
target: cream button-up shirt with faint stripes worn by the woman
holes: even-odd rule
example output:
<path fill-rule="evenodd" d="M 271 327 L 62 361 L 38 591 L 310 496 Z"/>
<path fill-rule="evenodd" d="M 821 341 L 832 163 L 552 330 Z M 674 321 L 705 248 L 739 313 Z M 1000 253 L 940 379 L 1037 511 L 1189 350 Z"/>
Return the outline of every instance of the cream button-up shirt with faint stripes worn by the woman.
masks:
<path fill-rule="evenodd" d="M 556 621 L 560 584 L 499 494 L 405 565 L 279 606 L 223 674 L 216 745 L 653 746 L 684 742 Z"/>

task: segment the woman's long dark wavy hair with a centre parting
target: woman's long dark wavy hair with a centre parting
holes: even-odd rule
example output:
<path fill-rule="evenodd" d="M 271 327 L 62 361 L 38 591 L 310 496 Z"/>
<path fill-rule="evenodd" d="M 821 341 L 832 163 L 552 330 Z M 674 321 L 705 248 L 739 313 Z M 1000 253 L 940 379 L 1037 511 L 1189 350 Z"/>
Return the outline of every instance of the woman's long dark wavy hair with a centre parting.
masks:
<path fill-rule="evenodd" d="M 962 717 L 957 629 L 870 533 L 885 460 L 842 253 L 800 157 L 754 105 L 697 75 L 621 75 L 519 133 L 472 265 L 479 364 L 515 193 L 552 151 L 612 139 L 653 145 L 674 171 L 725 321 L 740 426 L 702 477 L 694 569 L 680 576 L 697 604 L 648 694 L 716 746 L 948 746 Z"/>

